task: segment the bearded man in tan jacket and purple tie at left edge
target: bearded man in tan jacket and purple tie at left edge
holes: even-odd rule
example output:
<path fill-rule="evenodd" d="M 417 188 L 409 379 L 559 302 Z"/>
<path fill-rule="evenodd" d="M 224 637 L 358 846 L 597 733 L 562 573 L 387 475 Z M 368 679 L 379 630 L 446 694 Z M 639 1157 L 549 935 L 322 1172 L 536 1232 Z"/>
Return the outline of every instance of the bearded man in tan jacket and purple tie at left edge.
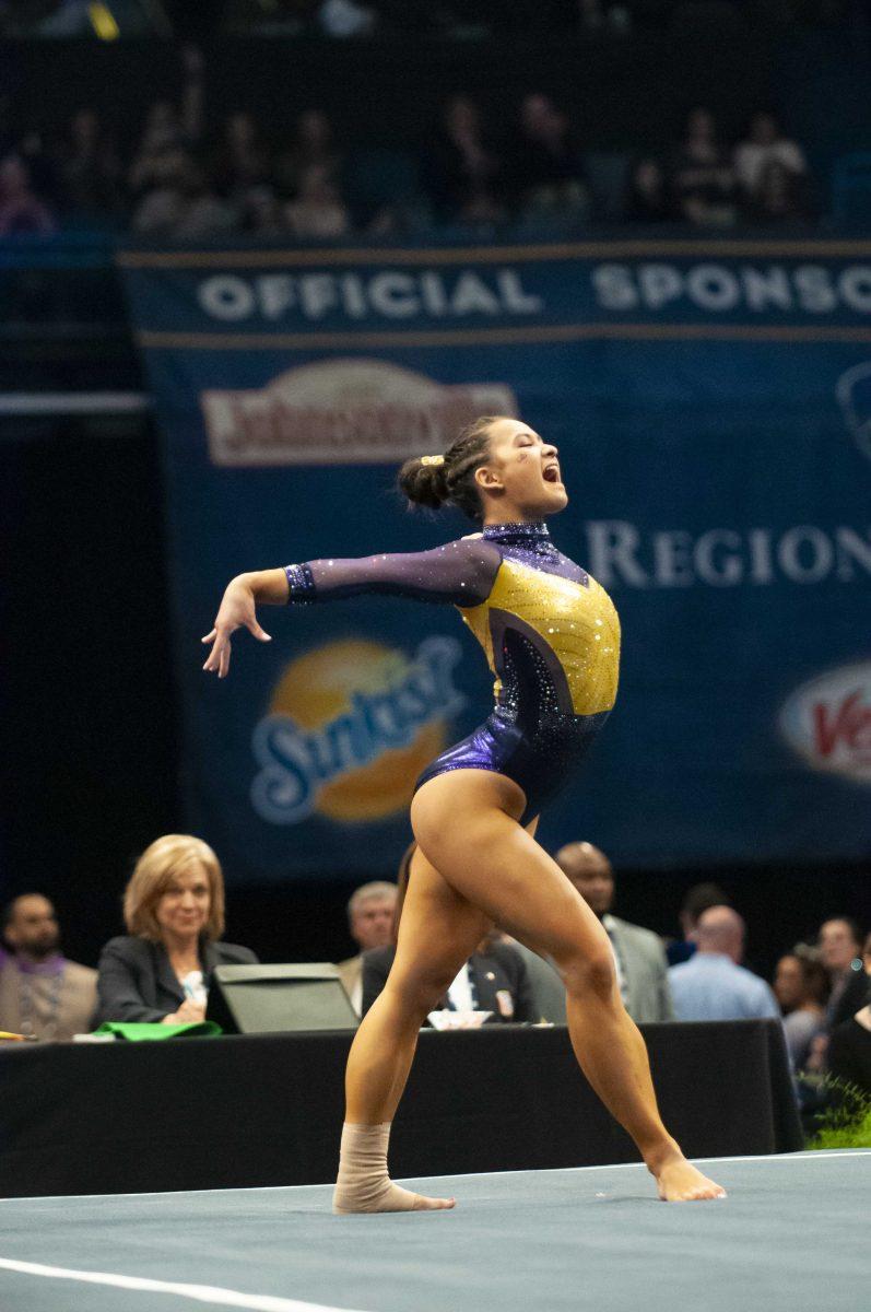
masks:
<path fill-rule="evenodd" d="M 42 893 L 22 893 L 5 909 L 0 953 L 0 1029 L 43 1042 L 91 1029 L 97 972 L 60 953 L 55 909 Z"/>

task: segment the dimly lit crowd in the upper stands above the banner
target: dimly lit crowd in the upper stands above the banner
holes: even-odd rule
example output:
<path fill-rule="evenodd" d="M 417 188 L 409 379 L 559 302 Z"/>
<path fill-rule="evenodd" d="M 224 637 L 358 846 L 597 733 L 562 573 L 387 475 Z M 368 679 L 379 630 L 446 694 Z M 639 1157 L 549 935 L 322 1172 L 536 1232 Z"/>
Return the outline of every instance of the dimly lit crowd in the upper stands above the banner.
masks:
<path fill-rule="evenodd" d="M 506 105 L 498 123 L 474 96 L 455 94 L 416 151 L 352 147 L 315 106 L 286 136 L 264 131 L 245 109 L 211 131 L 194 47 L 178 100 L 150 106 L 129 154 L 88 106 L 56 140 L 37 129 L 4 140 L 0 127 L 0 236 L 70 226 L 173 241 L 504 226 L 567 234 L 614 223 L 790 232 L 813 215 L 801 146 L 767 110 L 729 142 L 697 106 L 668 151 L 631 157 L 586 152 L 582 125 L 544 92 Z"/>

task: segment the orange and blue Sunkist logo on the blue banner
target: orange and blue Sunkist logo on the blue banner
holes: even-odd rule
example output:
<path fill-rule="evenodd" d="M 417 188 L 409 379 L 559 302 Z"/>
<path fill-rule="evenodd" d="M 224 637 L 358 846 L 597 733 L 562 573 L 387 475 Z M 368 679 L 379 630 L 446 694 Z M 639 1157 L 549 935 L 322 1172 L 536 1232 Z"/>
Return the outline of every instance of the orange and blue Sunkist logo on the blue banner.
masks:
<path fill-rule="evenodd" d="M 294 660 L 252 740 L 257 813 L 298 824 L 312 812 L 366 823 L 401 811 L 463 706 L 453 681 L 460 655 L 453 638 L 428 638 L 411 659 L 344 639 Z"/>

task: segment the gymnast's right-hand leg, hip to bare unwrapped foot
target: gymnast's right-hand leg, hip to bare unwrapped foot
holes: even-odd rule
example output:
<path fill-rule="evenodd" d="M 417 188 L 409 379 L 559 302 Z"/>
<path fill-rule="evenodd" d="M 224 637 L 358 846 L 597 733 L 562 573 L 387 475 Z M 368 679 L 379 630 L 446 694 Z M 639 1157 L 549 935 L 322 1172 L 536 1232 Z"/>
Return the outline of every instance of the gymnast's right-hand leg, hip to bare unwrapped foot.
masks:
<path fill-rule="evenodd" d="M 588 1081 L 628 1131 L 660 1197 L 723 1198 L 668 1134 L 656 1105 L 647 1047 L 620 1000 L 607 934 L 555 861 L 518 824 L 526 798 L 505 775 L 453 770 L 412 800 L 421 850 L 453 891 L 538 951 L 567 989 L 572 1046 Z"/>

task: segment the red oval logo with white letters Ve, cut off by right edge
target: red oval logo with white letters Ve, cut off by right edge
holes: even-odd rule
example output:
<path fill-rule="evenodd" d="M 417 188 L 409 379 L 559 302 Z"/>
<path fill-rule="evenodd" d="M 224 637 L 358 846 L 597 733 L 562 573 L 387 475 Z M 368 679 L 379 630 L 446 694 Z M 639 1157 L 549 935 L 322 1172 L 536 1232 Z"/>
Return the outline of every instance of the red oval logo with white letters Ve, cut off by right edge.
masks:
<path fill-rule="evenodd" d="M 871 661 L 798 687 L 780 711 L 780 729 L 816 770 L 871 783 Z"/>

